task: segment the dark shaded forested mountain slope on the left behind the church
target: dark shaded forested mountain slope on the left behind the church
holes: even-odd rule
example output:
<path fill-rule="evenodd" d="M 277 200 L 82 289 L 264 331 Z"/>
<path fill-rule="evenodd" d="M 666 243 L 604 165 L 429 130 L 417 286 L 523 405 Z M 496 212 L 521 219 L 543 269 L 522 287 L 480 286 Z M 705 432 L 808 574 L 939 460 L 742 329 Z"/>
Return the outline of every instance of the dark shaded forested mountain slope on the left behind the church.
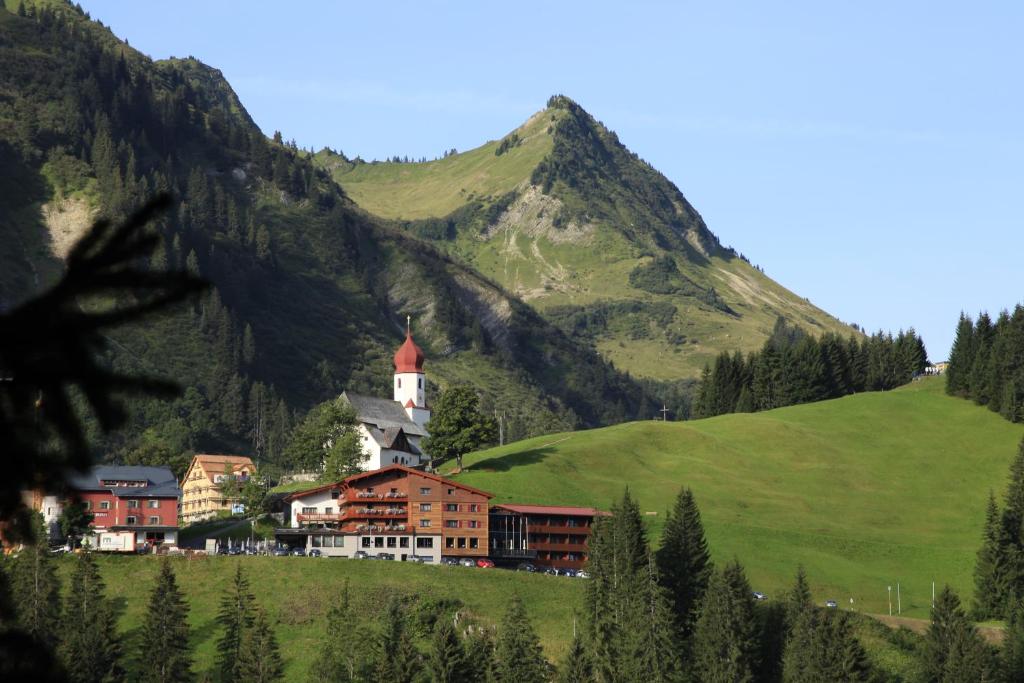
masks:
<path fill-rule="evenodd" d="M 56 276 L 93 217 L 155 190 L 181 201 L 156 226 L 153 267 L 215 285 L 112 335 L 111 364 L 187 390 L 135 402 L 132 428 L 100 442 L 108 457 L 240 449 L 273 462 L 297 412 L 342 388 L 390 390 L 407 314 L 429 379 L 475 384 L 512 436 L 653 411 L 636 382 L 500 285 L 367 215 L 266 139 L 215 69 L 153 61 L 67 3 L 27 6 L 0 10 L 0 302 Z"/>

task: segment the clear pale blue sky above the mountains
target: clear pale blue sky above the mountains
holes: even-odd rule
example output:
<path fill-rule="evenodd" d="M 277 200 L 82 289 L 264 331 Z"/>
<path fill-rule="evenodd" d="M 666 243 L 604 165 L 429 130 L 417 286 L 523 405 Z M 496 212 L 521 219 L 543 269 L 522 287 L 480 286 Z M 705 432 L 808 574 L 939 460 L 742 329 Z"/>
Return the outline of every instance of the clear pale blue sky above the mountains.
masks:
<path fill-rule="evenodd" d="M 469 150 L 568 95 L 723 244 L 932 360 L 1024 296 L 1024 3 L 82 4 L 349 157 Z"/>

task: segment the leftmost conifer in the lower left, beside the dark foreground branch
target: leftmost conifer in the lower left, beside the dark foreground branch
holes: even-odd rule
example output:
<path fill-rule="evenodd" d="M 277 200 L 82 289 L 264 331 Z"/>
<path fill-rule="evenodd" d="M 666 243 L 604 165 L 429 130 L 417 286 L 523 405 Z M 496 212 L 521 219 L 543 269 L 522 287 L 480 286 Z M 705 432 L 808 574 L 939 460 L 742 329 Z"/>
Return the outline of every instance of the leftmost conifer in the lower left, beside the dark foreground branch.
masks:
<path fill-rule="evenodd" d="M 46 529 L 36 514 L 36 542 L 11 565 L 11 593 L 22 630 L 47 647 L 57 644 L 60 624 L 60 582 L 46 548 Z"/>

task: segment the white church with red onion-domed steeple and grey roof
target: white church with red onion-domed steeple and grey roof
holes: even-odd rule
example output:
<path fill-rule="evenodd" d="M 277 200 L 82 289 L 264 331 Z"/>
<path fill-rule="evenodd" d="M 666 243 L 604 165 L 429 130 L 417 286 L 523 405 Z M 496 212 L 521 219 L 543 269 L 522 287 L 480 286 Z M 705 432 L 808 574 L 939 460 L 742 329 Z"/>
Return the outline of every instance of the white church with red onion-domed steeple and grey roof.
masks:
<path fill-rule="evenodd" d="M 351 392 L 341 394 L 355 411 L 362 450 L 370 455 L 367 470 L 389 465 L 420 467 L 427 456 L 420 447 L 427 435 L 430 410 L 426 399 L 423 350 L 413 341 L 407 322 L 406 341 L 394 353 L 394 398 L 377 398 Z"/>

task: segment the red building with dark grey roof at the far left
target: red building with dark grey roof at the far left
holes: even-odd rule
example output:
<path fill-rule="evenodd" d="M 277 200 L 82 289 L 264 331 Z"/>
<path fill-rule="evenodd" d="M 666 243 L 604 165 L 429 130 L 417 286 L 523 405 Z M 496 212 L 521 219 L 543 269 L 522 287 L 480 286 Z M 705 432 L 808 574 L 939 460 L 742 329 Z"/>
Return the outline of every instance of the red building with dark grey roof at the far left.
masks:
<path fill-rule="evenodd" d="M 76 476 L 71 487 L 93 515 L 93 548 L 132 552 L 176 543 L 181 489 L 170 469 L 101 465 Z"/>

